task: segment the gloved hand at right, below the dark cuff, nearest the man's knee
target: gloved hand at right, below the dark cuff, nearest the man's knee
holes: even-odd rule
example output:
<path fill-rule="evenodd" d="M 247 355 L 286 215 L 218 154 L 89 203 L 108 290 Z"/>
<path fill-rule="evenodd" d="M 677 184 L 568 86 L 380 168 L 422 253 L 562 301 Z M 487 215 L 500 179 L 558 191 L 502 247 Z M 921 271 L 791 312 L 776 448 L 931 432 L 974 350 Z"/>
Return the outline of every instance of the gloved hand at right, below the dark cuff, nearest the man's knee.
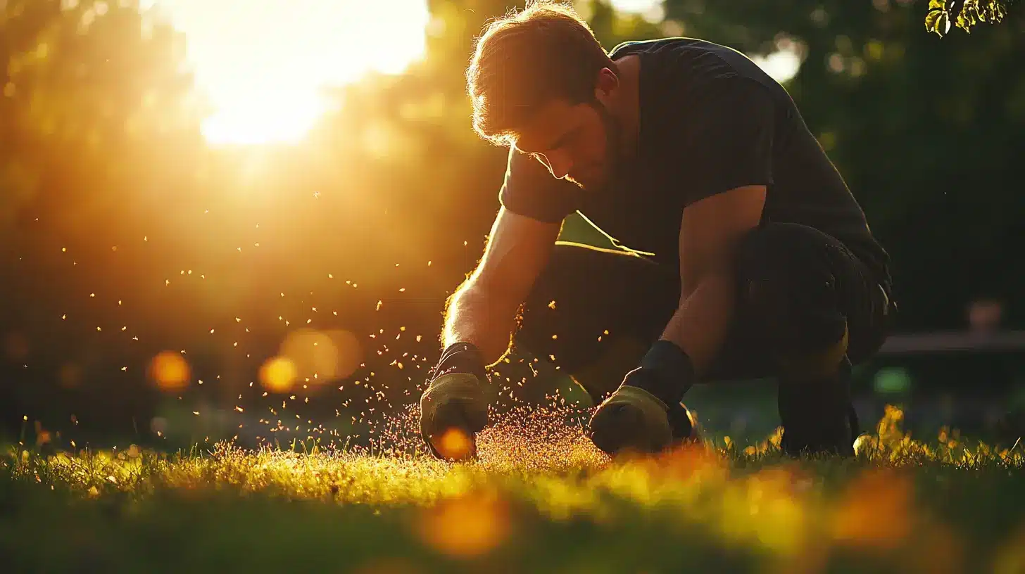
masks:
<path fill-rule="evenodd" d="M 590 440 L 609 455 L 623 450 L 655 453 L 673 440 L 668 407 L 651 393 L 624 381 L 590 417 Z"/>

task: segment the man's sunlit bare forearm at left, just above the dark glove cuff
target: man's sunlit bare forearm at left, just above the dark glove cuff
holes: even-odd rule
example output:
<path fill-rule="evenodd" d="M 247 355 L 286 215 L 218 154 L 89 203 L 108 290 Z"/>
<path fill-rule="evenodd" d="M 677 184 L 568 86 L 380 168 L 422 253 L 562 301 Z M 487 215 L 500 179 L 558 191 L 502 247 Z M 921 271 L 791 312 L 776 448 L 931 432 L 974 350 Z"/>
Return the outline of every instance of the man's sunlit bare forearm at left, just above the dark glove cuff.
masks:
<path fill-rule="evenodd" d="M 448 300 L 442 346 L 469 342 L 493 365 L 508 352 L 520 303 L 474 281 L 464 283 Z"/>

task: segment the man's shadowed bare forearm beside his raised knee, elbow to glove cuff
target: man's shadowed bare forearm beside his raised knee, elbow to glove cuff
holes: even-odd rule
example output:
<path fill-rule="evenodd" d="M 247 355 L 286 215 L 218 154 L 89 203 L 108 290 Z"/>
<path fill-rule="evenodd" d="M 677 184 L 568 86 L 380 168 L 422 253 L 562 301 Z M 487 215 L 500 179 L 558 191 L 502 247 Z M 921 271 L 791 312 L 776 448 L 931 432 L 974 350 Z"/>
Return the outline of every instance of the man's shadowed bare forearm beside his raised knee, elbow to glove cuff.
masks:
<path fill-rule="evenodd" d="M 662 338 L 676 343 L 702 376 L 719 355 L 733 320 L 736 293 L 730 274 L 712 274 L 680 303 Z"/>

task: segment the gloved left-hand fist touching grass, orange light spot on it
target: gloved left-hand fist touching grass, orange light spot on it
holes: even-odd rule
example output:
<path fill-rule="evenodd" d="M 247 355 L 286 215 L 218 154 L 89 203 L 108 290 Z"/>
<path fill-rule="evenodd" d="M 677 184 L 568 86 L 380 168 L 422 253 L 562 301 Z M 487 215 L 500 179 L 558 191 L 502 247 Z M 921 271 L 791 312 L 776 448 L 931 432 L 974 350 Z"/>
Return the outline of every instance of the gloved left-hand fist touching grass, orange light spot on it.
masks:
<path fill-rule="evenodd" d="M 475 434 L 487 424 L 488 401 L 475 375 L 441 375 L 420 397 L 420 435 L 438 458 L 464 460 L 476 456 Z"/>

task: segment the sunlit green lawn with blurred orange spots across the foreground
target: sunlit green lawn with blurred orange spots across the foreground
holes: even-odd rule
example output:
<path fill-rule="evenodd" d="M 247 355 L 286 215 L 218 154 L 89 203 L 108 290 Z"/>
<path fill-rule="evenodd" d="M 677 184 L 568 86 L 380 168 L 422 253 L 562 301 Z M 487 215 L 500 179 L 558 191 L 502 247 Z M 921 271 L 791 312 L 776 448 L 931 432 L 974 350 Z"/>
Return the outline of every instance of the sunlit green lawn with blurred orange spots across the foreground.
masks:
<path fill-rule="evenodd" d="M 555 417 L 558 418 L 558 417 Z M 134 446 L 0 463 L 8 572 L 1025 572 L 1025 457 L 889 409 L 855 460 L 610 461 L 537 410 L 480 457 Z"/>

